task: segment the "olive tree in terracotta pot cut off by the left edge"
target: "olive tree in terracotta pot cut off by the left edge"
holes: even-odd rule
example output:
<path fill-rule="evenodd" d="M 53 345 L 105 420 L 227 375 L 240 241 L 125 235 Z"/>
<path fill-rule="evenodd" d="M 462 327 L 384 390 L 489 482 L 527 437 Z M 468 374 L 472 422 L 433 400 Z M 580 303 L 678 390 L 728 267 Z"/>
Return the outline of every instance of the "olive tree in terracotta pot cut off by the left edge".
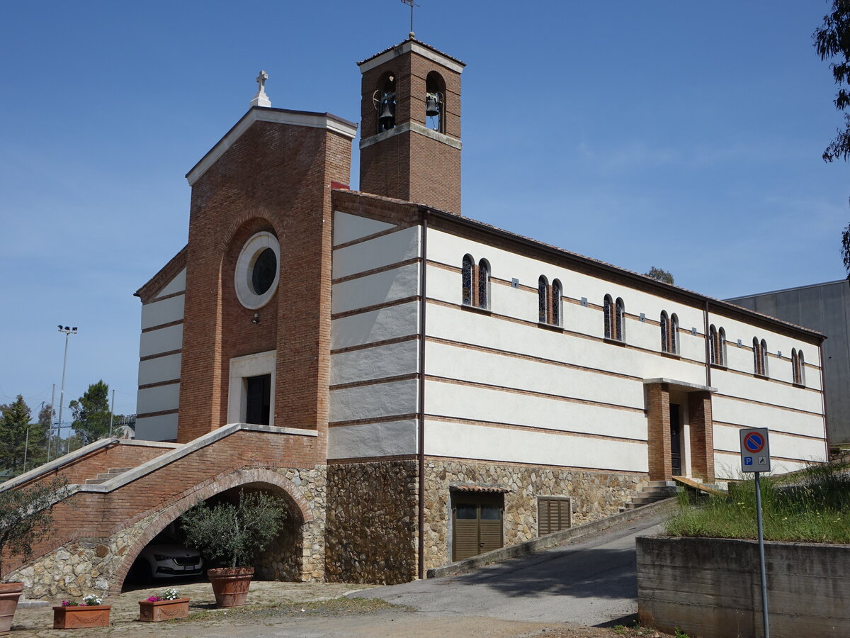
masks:
<path fill-rule="evenodd" d="M 22 489 L 0 492 L 0 575 L 6 576 L 3 552 L 20 555 L 24 561 L 32 557 L 32 545 L 44 538 L 53 526 L 51 506 L 65 497 L 67 481 L 54 478 Z M 12 627 L 14 610 L 24 591 L 19 582 L 0 582 L 0 634 Z"/>

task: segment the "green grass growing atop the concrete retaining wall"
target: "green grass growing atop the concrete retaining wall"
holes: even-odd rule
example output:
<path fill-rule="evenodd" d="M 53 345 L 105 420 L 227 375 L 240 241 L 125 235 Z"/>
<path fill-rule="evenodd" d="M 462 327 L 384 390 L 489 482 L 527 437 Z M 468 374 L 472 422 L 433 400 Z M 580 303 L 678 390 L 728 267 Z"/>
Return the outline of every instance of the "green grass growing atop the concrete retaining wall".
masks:
<path fill-rule="evenodd" d="M 847 461 L 810 465 L 783 476 L 762 476 L 766 540 L 850 543 L 850 470 Z M 671 536 L 757 538 L 756 481 L 729 484 L 707 500 L 679 494 L 666 523 Z"/>

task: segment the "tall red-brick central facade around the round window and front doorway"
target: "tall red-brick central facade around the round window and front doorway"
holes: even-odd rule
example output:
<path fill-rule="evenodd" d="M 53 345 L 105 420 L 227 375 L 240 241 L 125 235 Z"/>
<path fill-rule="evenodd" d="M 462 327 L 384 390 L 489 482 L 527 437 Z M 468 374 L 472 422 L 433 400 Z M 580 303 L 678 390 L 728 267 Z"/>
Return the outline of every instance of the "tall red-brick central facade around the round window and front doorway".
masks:
<path fill-rule="evenodd" d="M 331 181 L 348 181 L 351 143 L 322 128 L 254 122 L 195 182 L 178 442 L 227 422 L 229 362 L 277 351 L 275 424 L 324 432 L 330 366 Z M 280 242 L 280 283 L 258 310 L 233 286 L 246 240 Z M 292 276 L 297 273 L 298 276 Z M 258 322 L 252 317 L 258 314 Z M 324 441 L 324 435 L 321 437 Z M 314 462 L 321 462 L 317 448 Z"/>

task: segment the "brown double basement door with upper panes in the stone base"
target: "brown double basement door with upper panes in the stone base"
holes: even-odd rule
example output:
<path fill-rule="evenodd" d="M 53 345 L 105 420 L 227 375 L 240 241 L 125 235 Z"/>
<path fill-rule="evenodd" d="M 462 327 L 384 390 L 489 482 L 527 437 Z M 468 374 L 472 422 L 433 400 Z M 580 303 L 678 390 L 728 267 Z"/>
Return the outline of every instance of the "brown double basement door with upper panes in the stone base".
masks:
<path fill-rule="evenodd" d="M 462 561 L 503 544 L 503 494 L 453 493 L 451 560 Z"/>

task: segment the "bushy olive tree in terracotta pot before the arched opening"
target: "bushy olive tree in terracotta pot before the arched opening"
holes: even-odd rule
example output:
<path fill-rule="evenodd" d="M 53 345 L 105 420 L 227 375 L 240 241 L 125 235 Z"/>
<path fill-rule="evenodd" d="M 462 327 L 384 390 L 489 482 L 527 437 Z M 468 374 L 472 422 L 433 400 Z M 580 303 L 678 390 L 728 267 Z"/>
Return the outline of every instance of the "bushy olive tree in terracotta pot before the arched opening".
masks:
<path fill-rule="evenodd" d="M 218 607 L 245 604 L 254 558 L 280 532 L 287 511 L 279 497 L 240 490 L 236 503 L 201 501 L 180 517 L 188 543 L 229 566 L 207 570 Z"/>

